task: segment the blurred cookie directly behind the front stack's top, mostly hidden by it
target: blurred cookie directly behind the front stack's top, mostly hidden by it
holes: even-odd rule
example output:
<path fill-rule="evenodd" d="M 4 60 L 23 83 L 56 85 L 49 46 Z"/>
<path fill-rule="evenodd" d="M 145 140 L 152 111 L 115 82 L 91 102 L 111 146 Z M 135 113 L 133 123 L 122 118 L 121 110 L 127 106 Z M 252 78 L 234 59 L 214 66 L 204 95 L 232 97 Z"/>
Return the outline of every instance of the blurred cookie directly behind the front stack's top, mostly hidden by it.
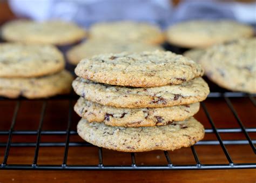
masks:
<path fill-rule="evenodd" d="M 161 46 L 149 45 L 139 42 L 122 42 L 119 40 L 88 39 L 86 42 L 74 46 L 67 53 L 71 64 L 78 64 L 83 58 L 91 58 L 94 55 L 120 52 L 142 52 L 163 50 Z"/>

